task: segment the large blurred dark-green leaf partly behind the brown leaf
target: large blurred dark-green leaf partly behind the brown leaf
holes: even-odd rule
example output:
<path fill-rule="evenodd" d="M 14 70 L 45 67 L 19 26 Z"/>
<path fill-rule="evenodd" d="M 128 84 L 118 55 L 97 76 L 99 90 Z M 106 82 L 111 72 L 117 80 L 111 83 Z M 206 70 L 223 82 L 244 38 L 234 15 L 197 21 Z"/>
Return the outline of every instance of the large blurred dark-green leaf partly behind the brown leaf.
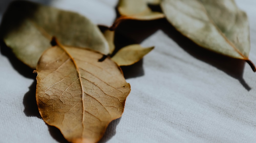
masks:
<path fill-rule="evenodd" d="M 17 58 L 34 69 L 44 50 L 51 47 L 52 36 L 63 45 L 109 52 L 104 36 L 89 19 L 27 1 L 15 1 L 9 6 L 0 33 Z"/>

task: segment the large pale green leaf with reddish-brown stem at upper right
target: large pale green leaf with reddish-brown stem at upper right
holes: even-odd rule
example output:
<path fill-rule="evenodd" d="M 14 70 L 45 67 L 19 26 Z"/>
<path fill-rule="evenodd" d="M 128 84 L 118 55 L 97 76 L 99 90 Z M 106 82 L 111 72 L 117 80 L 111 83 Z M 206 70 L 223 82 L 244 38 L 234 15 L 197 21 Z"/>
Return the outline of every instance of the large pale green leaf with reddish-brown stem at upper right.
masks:
<path fill-rule="evenodd" d="M 196 44 L 217 53 L 246 60 L 250 51 L 249 22 L 234 0 L 163 0 L 167 20 Z"/>

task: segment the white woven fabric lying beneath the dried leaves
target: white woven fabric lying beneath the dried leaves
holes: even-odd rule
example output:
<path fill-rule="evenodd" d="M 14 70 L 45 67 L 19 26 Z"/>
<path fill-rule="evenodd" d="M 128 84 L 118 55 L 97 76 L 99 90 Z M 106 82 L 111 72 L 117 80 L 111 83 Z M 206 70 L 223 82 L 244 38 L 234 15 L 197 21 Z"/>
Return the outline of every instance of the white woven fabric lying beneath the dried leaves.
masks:
<path fill-rule="evenodd" d="M 0 18 L 9 2 L 1 0 Z M 95 24 L 110 26 L 116 17 L 116 0 L 35 2 L 79 12 Z M 249 17 L 249 58 L 256 63 L 256 1 L 236 3 Z M 256 73 L 247 63 L 196 46 L 165 20 L 127 25 L 121 34 L 155 49 L 124 69 L 131 93 L 100 143 L 256 142 Z M 1 47 L 0 143 L 66 142 L 36 110 L 33 70 L 11 54 Z"/>

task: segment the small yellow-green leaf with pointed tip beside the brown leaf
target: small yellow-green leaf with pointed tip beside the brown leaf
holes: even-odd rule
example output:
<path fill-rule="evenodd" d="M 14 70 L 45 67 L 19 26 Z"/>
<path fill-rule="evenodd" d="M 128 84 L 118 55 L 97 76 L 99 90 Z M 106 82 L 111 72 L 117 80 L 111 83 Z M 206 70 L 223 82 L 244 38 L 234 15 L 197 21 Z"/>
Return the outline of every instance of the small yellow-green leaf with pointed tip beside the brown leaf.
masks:
<path fill-rule="evenodd" d="M 153 49 L 154 47 L 142 48 L 139 44 L 125 46 L 112 57 L 112 60 L 119 66 L 129 66 L 141 60 Z"/>

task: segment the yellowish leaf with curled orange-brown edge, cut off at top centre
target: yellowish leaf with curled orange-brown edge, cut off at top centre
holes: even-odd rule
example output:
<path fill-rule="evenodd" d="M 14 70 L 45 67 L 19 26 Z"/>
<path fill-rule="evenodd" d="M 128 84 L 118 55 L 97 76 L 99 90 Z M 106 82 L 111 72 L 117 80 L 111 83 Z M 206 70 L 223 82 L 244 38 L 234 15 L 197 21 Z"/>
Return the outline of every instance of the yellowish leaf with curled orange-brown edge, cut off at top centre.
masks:
<path fill-rule="evenodd" d="M 125 19 L 133 20 L 155 20 L 164 18 L 161 12 L 152 11 L 147 4 L 159 4 L 160 0 L 120 0 L 118 11 L 120 17 L 116 19 L 110 29 L 115 29 L 118 24 Z"/>

